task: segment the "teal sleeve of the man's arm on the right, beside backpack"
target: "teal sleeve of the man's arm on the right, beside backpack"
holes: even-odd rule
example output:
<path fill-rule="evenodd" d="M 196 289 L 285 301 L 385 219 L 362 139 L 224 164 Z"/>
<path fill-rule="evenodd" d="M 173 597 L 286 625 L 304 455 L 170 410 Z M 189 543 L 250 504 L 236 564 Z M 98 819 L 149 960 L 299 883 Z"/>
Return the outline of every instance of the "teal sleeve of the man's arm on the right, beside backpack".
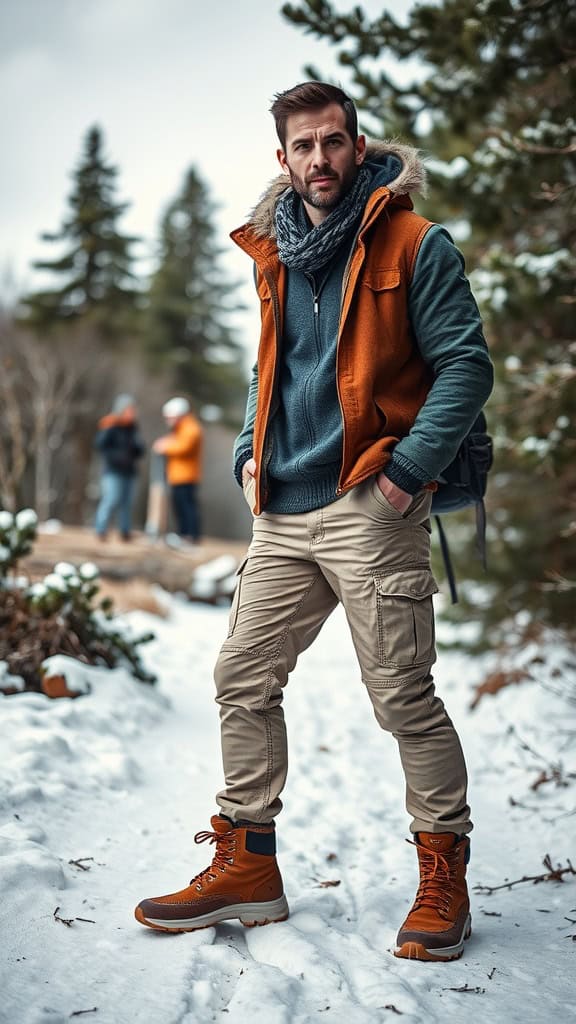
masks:
<path fill-rule="evenodd" d="M 414 495 L 452 462 L 494 378 L 463 256 L 439 225 L 430 227 L 420 246 L 408 308 L 416 344 L 435 379 L 384 472 Z"/>

